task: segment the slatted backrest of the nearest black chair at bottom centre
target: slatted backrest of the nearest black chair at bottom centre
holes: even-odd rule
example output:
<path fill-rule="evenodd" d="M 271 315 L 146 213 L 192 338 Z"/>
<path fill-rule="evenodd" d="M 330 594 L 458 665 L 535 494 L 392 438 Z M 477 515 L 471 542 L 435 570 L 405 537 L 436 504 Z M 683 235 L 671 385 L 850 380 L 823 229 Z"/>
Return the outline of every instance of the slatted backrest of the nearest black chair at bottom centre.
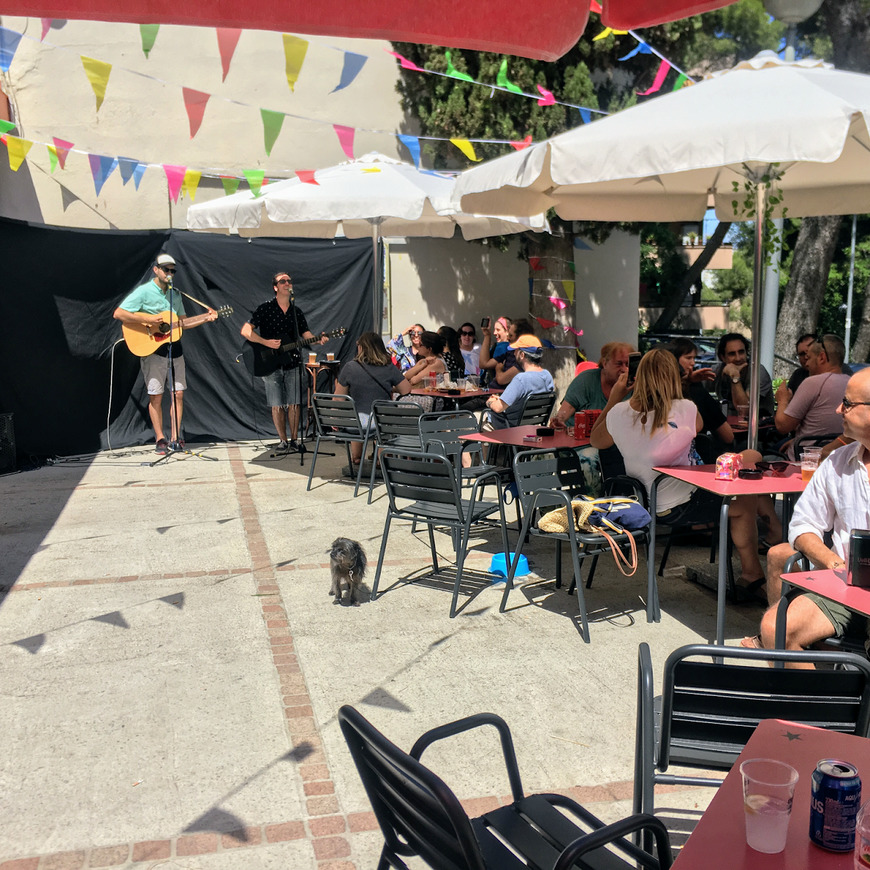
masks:
<path fill-rule="evenodd" d="M 443 780 L 353 707 L 342 707 L 338 721 L 387 850 L 442 870 L 485 870 L 471 822 Z"/>

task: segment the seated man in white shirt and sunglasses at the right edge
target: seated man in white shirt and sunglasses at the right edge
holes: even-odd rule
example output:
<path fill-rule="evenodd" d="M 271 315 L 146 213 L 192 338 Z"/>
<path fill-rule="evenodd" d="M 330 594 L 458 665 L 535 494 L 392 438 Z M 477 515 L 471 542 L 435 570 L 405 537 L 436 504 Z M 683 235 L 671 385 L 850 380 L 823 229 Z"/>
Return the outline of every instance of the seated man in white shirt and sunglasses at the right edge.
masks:
<path fill-rule="evenodd" d="M 777 552 L 780 573 L 789 546 L 804 553 L 817 568 L 843 571 L 849 559 L 852 529 L 870 528 L 870 369 L 849 379 L 839 413 L 844 439 L 855 440 L 834 450 L 822 462 L 798 499 L 789 527 L 789 543 L 775 548 L 782 551 Z M 825 544 L 828 532 L 832 536 L 830 547 Z M 773 647 L 781 583 L 779 576 L 775 580 L 776 584 L 768 584 L 772 606 L 762 617 L 760 641 L 747 638 L 744 645 Z M 805 592 L 789 602 L 785 648 L 805 649 L 829 637 L 866 632 L 867 627 L 866 617 L 821 595 Z"/>

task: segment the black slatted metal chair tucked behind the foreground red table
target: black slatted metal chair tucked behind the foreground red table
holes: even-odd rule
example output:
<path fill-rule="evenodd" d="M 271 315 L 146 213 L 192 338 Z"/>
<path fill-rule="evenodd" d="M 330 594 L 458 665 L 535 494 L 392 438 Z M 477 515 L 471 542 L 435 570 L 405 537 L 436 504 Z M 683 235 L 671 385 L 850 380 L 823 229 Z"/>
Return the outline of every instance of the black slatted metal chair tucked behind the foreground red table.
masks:
<path fill-rule="evenodd" d="M 716 661 L 709 660 L 713 658 Z M 763 666 L 777 662 L 826 669 Z M 729 770 L 762 719 L 787 719 L 867 737 L 868 684 L 870 662 L 848 652 L 690 644 L 668 656 L 657 710 L 649 646 L 640 644 L 634 812 L 655 812 L 656 785 L 718 788 L 720 777 L 675 775 L 668 768 L 673 764 L 708 773 Z"/>

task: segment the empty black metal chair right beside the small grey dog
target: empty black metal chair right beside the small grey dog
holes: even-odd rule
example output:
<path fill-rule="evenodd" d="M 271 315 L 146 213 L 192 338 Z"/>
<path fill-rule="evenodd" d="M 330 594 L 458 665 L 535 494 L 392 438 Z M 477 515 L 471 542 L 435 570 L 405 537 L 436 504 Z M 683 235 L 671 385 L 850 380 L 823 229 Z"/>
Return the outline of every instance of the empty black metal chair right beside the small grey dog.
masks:
<path fill-rule="evenodd" d="M 419 450 L 388 448 L 381 451 L 380 462 L 390 504 L 384 522 L 378 567 L 372 583 L 372 601 L 378 596 L 378 583 L 384 564 L 387 538 L 394 519 L 409 520 L 427 526 L 429 547 L 432 552 L 432 569 L 435 572 L 439 569 L 434 529 L 447 528 L 450 530 L 456 551 L 456 579 L 453 584 L 453 600 L 450 604 L 452 619 L 456 616 L 456 604 L 462 583 L 462 567 L 468 550 L 471 529 L 496 524 L 501 531 L 505 564 L 510 559 L 499 474 L 495 470 L 481 474 L 474 481 L 468 498 L 463 498 L 459 477 L 453 468 L 453 463 L 446 456 L 423 453 Z M 480 498 L 480 490 L 487 483 L 493 484 L 496 488 L 495 501 L 483 501 Z M 498 520 L 490 520 L 489 518 L 496 513 Z"/>

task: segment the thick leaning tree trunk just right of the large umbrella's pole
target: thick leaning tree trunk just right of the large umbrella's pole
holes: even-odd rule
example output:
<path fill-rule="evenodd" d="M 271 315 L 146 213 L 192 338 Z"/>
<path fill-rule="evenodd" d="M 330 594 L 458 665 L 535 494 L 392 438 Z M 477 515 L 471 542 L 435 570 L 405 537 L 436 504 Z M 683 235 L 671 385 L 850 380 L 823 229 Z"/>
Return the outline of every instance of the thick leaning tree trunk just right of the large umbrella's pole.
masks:
<path fill-rule="evenodd" d="M 792 359 L 798 337 L 816 329 L 842 221 L 840 215 L 827 215 L 804 218 L 801 223 L 779 309 L 774 350 L 780 356 Z M 791 373 L 785 371 L 788 368 L 785 363 L 775 363 L 775 376 L 786 377 Z"/>

